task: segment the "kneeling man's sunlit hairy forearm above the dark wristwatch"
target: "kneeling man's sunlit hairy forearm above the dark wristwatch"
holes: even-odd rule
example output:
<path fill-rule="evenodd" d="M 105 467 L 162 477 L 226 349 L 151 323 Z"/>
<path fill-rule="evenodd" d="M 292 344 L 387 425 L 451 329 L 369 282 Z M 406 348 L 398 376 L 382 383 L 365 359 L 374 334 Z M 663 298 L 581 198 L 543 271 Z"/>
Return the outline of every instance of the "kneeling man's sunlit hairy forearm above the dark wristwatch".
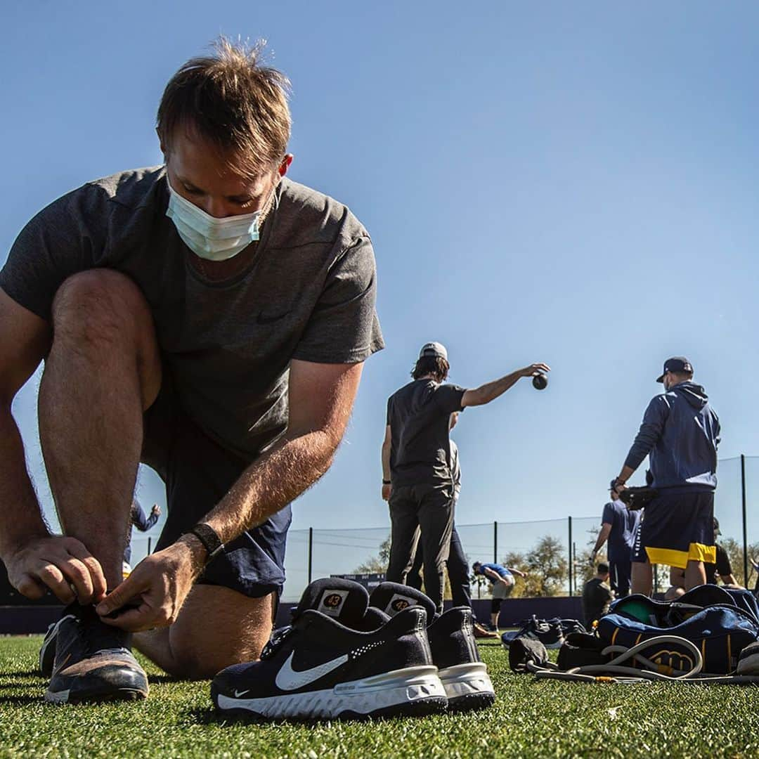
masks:
<path fill-rule="evenodd" d="M 317 430 L 282 439 L 254 461 L 203 519 L 229 543 L 262 524 L 317 482 L 332 465 L 339 440 Z"/>

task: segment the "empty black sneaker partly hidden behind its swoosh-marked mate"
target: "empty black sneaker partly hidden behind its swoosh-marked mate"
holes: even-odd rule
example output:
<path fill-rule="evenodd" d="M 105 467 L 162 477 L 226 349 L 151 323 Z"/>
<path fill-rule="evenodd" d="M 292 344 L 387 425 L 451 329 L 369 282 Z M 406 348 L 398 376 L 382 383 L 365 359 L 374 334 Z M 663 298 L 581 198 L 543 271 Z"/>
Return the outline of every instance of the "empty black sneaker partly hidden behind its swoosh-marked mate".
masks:
<path fill-rule="evenodd" d="M 487 664 L 477 651 L 469 606 L 455 606 L 436 615 L 435 604 L 424 593 L 394 582 L 383 582 L 374 588 L 370 603 L 389 616 L 414 606 L 427 610 L 431 620 L 427 635 L 432 660 L 446 689 L 449 710 L 481 709 L 493 704 L 496 693 L 487 674 Z"/>

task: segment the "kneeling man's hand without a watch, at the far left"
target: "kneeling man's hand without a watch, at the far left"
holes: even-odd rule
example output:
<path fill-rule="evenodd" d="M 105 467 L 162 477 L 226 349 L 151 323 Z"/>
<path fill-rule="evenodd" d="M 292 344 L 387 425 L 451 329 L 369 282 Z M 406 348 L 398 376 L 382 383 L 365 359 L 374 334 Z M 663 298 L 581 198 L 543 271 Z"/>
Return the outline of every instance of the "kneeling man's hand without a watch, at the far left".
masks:
<path fill-rule="evenodd" d="M 6 568 L 11 585 L 34 600 L 49 587 L 63 603 L 97 603 L 108 587 L 100 562 L 75 537 L 36 537 L 16 550 Z"/>

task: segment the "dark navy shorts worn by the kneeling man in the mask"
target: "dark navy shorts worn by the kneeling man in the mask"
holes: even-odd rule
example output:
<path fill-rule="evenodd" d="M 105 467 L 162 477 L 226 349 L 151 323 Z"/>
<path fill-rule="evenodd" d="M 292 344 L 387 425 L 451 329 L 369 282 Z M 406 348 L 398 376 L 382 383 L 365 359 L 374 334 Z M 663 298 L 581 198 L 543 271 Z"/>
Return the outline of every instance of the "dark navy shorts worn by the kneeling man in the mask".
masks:
<path fill-rule="evenodd" d="M 250 465 L 209 438 L 187 416 L 172 392 L 168 372 L 156 402 L 145 412 L 140 460 L 166 486 L 167 517 L 156 550 L 171 545 L 226 495 Z M 206 566 L 199 584 L 222 585 L 260 598 L 282 593 L 290 506 L 224 546 Z"/>

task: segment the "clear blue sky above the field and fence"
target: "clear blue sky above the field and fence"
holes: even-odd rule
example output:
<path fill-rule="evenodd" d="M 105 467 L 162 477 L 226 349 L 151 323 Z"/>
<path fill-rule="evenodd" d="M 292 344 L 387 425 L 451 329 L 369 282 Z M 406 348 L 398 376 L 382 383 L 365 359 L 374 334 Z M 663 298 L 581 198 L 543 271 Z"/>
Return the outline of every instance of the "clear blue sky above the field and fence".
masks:
<path fill-rule="evenodd" d="M 545 392 L 462 417 L 461 524 L 600 514 L 672 354 L 713 398 L 720 455 L 759 453 L 756 5 L 35 2 L 2 22 L 0 263 L 55 197 L 161 161 L 156 106 L 186 58 L 269 40 L 291 176 L 370 230 L 388 346 L 295 528 L 387 524 L 386 398 L 431 339 L 464 386 L 553 367 Z M 14 409 L 50 509 L 35 392 Z"/>

